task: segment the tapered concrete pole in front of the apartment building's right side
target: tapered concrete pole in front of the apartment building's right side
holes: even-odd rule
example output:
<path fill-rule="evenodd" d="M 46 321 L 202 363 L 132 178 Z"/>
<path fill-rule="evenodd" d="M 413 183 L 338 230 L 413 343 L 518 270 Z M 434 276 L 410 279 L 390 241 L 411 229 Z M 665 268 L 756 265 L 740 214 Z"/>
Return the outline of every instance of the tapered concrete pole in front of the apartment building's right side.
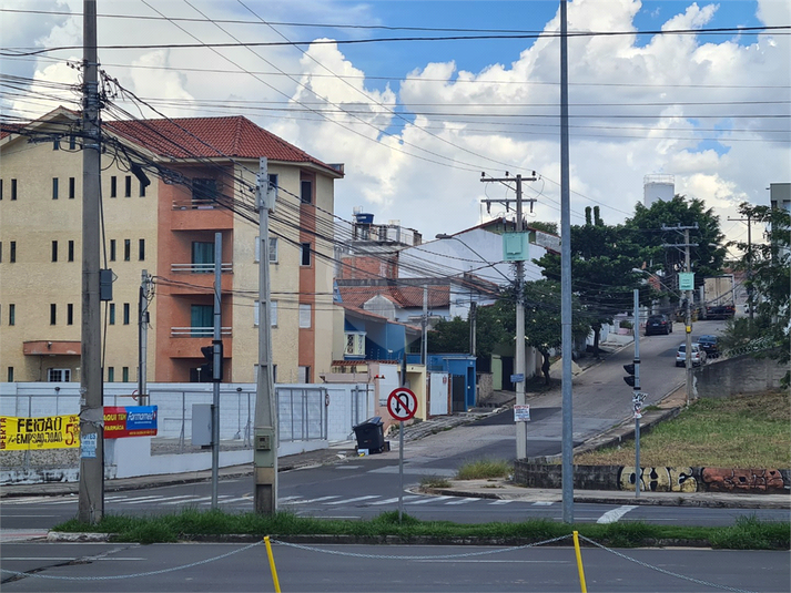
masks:
<path fill-rule="evenodd" d="M 270 213 L 277 188 L 270 185 L 266 157 L 258 160 L 258 374 L 253 427 L 253 502 L 256 513 L 277 512 L 277 417 L 272 375 L 272 323 L 270 321 Z"/>

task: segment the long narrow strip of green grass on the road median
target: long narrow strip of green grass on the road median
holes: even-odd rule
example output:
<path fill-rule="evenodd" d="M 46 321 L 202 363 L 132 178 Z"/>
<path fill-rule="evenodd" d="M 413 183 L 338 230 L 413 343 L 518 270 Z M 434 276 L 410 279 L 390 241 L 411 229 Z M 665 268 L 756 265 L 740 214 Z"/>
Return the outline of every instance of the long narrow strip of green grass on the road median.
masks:
<path fill-rule="evenodd" d="M 789 549 L 788 522 L 762 522 L 741 518 L 724 528 L 653 525 L 642 522 L 610 524 L 580 523 L 569 525 L 549 520 L 528 520 L 519 523 L 459 524 L 449 521 L 420 521 L 406 513 L 398 520 L 397 511 L 388 511 L 371 520 L 338 520 L 296 517 L 280 512 L 274 517 L 255 513 L 222 511 L 181 513 L 156 517 L 104 515 L 95 525 L 67 521 L 53 528 L 62 532 L 113 533 L 114 541 L 173 542 L 192 535 L 249 534 L 274 538 L 305 534 L 347 535 L 359 539 L 400 536 L 405 541 L 432 538 L 448 542 L 460 539 L 481 539 L 498 542 L 540 542 L 568 535 L 572 531 L 608 546 L 635 548 L 655 545 L 657 541 L 703 541 L 714 548 L 737 550 Z"/>

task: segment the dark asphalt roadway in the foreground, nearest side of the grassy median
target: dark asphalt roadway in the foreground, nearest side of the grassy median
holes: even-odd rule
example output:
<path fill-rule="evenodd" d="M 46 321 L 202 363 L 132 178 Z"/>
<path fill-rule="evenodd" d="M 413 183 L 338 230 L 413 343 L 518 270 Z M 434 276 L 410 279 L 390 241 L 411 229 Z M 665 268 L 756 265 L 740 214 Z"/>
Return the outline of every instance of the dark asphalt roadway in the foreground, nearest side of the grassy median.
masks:
<path fill-rule="evenodd" d="M 571 546 L 294 548 L 274 542 L 272 548 L 284 592 L 580 591 Z M 16 581 L 3 572 L 2 590 L 11 593 L 275 591 L 261 543 L 11 543 L 2 552 L 3 571 L 37 571 Z M 780 592 L 791 581 L 788 552 L 584 548 L 581 558 L 589 591 Z"/>

